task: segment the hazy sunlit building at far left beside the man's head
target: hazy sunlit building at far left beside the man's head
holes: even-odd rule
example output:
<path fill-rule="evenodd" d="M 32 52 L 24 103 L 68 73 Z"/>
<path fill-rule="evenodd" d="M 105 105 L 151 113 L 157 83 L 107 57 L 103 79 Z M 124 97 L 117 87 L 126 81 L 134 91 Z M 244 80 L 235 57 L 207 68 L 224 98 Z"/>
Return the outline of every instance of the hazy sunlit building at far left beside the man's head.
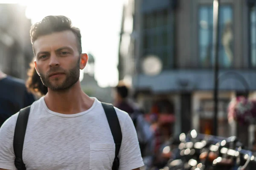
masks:
<path fill-rule="evenodd" d="M 0 69 L 8 75 L 26 79 L 33 58 L 26 7 L 19 4 L 0 4 Z"/>

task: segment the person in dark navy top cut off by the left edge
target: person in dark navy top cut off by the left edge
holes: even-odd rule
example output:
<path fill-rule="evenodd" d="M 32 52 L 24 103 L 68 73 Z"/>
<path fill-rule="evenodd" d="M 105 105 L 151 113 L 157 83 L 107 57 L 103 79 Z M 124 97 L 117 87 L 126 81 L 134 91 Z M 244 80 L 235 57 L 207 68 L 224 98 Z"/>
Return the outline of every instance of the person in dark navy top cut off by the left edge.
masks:
<path fill-rule="evenodd" d="M 0 127 L 10 116 L 35 101 L 21 79 L 7 76 L 0 71 Z"/>

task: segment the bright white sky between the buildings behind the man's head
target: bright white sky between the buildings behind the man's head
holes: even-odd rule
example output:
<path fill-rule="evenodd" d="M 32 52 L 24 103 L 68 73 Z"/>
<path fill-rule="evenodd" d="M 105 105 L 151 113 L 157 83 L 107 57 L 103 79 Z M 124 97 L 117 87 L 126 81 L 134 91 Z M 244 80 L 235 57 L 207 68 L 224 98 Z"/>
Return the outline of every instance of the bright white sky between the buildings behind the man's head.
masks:
<path fill-rule="evenodd" d="M 95 78 L 99 86 L 118 82 L 118 45 L 124 0 L 0 0 L 27 6 L 32 24 L 47 15 L 65 15 L 81 29 L 82 48 L 95 57 Z"/>

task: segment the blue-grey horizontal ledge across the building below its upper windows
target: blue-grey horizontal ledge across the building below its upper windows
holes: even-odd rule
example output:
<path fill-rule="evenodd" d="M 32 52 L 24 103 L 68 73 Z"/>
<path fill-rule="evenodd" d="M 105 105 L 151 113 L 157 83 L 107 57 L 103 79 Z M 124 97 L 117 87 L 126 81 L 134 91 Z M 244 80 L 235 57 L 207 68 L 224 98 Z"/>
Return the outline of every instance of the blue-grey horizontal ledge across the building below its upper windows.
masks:
<path fill-rule="evenodd" d="M 133 77 L 136 91 L 162 93 L 166 91 L 209 91 L 214 89 L 212 70 L 163 71 L 157 76 L 138 74 Z M 255 91 L 256 70 L 220 70 L 219 90 Z"/>

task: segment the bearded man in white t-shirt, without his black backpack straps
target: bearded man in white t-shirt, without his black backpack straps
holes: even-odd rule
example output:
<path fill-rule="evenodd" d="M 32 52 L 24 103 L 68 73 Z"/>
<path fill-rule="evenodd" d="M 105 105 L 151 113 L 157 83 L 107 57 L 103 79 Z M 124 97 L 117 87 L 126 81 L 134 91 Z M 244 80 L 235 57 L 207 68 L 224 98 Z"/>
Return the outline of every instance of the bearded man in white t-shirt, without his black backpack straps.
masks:
<path fill-rule="evenodd" d="M 30 109 L 23 145 L 27 170 L 111 170 L 115 144 L 104 109 L 81 90 L 80 30 L 64 16 L 47 16 L 32 26 L 35 68 L 48 93 Z M 136 130 L 129 115 L 115 108 L 122 130 L 119 170 L 143 166 Z M 18 114 L 0 129 L 0 168 L 13 170 L 13 134 Z"/>

